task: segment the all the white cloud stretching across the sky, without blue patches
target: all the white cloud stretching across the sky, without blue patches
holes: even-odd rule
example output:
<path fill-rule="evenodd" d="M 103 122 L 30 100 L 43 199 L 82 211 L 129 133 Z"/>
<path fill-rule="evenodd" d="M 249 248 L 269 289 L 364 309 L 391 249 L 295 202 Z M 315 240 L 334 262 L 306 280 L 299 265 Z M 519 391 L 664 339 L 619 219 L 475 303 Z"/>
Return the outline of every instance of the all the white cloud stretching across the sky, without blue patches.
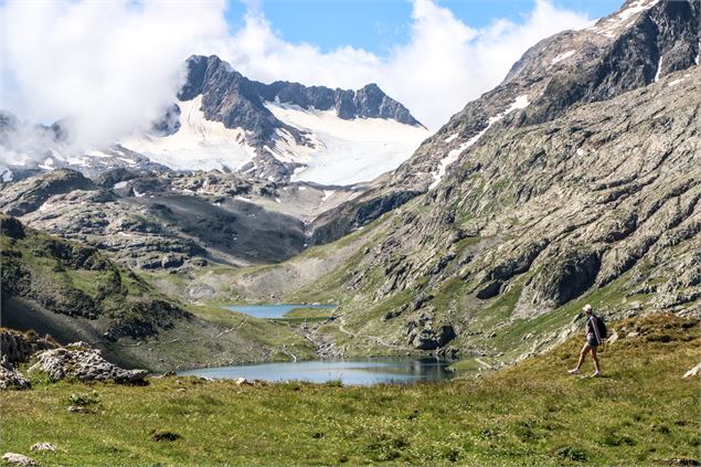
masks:
<path fill-rule="evenodd" d="M 45 123 L 68 117 L 82 146 L 108 144 L 157 118 L 173 99 L 182 61 L 202 53 L 264 82 L 374 82 L 437 128 L 498 84 L 530 45 L 588 20 L 535 0 L 520 23 L 474 29 L 433 0 L 414 0 L 410 40 L 381 56 L 287 42 L 255 1 L 230 33 L 224 1 L 10 0 L 0 7 L 0 108 Z"/>

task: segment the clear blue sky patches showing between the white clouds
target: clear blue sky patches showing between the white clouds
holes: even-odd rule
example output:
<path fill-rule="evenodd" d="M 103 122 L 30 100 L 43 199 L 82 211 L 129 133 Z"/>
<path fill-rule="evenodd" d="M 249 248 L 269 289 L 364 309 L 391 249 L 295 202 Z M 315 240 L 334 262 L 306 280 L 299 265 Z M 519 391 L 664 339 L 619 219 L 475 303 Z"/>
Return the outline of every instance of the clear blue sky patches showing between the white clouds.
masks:
<path fill-rule="evenodd" d="M 496 19 L 522 21 L 533 0 L 438 0 L 472 28 Z M 555 0 L 554 6 L 601 18 L 617 10 L 623 0 Z M 236 30 L 252 2 L 232 0 L 226 20 Z M 293 43 L 310 43 L 322 51 L 352 45 L 376 54 L 387 53 L 410 35 L 408 0 L 261 0 L 256 2 L 273 28 Z"/>

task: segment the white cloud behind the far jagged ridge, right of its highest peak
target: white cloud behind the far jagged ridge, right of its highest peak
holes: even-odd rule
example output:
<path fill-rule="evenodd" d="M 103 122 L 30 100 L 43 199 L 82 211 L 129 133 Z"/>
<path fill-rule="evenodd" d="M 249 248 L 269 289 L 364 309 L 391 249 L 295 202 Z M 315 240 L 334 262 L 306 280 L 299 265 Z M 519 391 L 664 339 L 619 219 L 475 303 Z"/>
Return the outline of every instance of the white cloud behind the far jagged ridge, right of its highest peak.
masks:
<path fill-rule="evenodd" d="M 257 8 L 249 8 L 245 25 L 229 40 L 211 44 L 210 53 L 264 82 L 343 88 L 374 82 L 425 125 L 437 128 L 496 86 L 528 47 L 588 20 L 535 0 L 520 23 L 495 20 L 474 29 L 435 1 L 414 0 L 408 42 L 378 56 L 351 46 L 322 52 L 311 44 L 286 42 Z"/>

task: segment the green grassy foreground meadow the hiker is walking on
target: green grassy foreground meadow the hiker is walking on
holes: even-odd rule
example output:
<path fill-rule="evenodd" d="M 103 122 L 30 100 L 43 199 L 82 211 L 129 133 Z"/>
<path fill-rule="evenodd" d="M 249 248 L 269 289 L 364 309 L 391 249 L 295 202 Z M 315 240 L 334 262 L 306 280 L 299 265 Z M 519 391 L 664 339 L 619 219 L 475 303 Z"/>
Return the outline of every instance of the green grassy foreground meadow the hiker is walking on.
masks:
<path fill-rule="evenodd" d="M 0 399 L 3 450 L 51 442 L 42 465 L 659 465 L 699 457 L 698 321 L 639 332 L 603 355 L 606 378 L 569 376 L 581 339 L 482 379 L 413 386 L 237 386 L 194 379 L 145 388 L 42 382 Z M 590 370 L 591 363 L 586 370 Z M 67 413 L 95 391 L 92 414 Z M 182 437 L 155 442 L 152 431 Z"/>

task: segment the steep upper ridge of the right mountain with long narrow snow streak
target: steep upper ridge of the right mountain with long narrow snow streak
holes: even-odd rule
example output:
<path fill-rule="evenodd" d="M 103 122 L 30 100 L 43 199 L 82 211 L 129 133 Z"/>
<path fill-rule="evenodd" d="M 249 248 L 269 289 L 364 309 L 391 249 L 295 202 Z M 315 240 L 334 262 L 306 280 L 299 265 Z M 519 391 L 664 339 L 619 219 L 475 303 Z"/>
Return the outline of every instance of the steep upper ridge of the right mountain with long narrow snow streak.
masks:
<path fill-rule="evenodd" d="M 501 128 L 551 121 L 572 107 L 607 100 L 695 66 L 700 14 L 698 2 L 629 0 L 590 28 L 541 41 L 512 66 L 499 86 L 467 104 L 428 138 L 387 183 L 341 206 L 336 214 L 328 213 L 328 225 L 320 226 L 318 236 L 340 237 L 343 232 L 329 235 L 328 231 L 349 213 L 358 216 L 363 205 L 382 202 L 394 208 L 396 203 L 386 201 L 406 201 L 436 189 L 446 173 L 459 166 L 457 161 L 470 157 L 472 146 Z M 382 212 L 386 210 L 375 211 Z M 376 216 L 364 216 L 358 224 L 368 224 Z"/>

